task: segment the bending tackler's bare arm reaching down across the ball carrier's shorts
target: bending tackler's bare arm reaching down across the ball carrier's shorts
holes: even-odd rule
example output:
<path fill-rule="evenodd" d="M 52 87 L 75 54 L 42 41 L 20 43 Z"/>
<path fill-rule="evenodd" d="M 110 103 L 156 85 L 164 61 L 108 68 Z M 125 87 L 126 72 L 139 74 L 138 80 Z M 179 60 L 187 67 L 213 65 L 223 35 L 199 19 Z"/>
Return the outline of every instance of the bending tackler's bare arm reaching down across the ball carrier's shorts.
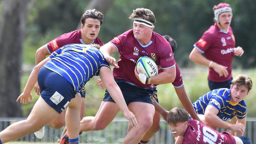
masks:
<path fill-rule="evenodd" d="M 111 98 L 113 98 L 115 103 L 117 103 L 121 111 L 124 113 L 124 116 L 129 120 L 131 126 L 138 127 L 137 119 L 135 118 L 135 115 L 131 111 L 129 111 L 124 101 L 124 96 L 122 95 L 121 89 L 115 82 L 113 73 L 108 67 L 102 66 L 100 68 L 100 79 L 106 86 L 106 89 L 108 90 Z"/>

